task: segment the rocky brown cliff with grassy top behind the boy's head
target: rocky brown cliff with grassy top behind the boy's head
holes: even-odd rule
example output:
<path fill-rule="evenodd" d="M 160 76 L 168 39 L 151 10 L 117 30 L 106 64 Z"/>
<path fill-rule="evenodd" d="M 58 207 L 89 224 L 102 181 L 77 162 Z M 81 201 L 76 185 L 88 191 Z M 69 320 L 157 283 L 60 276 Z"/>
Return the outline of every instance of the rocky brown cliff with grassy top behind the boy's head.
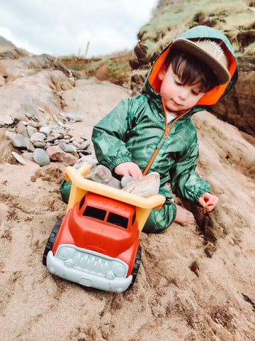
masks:
<path fill-rule="evenodd" d="M 205 25 L 220 29 L 234 46 L 239 60 L 239 80 L 234 91 L 212 109 L 223 121 L 255 136 L 255 3 L 239 1 L 239 6 L 220 3 L 210 6 L 196 1 L 159 1 L 151 21 L 137 34 L 139 42 L 130 60 L 131 88 L 142 89 L 149 68 L 164 47 L 188 28 Z M 181 14 L 180 14 L 181 13 Z M 168 15 L 166 17 L 166 14 Z M 245 23 L 242 22 L 242 16 Z M 166 18 L 168 21 L 166 21 Z M 164 22 L 165 26 L 161 23 Z"/>

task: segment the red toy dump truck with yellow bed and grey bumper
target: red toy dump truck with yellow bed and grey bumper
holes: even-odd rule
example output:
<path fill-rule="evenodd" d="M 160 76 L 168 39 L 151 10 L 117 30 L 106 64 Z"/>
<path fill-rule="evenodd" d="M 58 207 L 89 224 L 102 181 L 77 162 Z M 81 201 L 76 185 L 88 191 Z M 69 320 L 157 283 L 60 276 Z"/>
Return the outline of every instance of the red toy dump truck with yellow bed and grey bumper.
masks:
<path fill-rule="evenodd" d="M 122 292 L 131 288 L 140 266 L 139 235 L 163 195 L 141 197 L 87 180 L 90 166 L 68 166 L 72 180 L 67 215 L 47 241 L 42 263 L 52 274 L 82 286 Z"/>

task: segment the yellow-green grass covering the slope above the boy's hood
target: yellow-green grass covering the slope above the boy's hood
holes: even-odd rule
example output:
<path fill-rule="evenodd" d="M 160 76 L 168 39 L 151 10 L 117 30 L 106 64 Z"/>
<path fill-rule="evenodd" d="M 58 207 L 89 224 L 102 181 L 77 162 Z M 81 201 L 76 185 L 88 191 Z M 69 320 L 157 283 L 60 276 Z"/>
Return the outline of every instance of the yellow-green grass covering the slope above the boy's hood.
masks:
<path fill-rule="evenodd" d="M 147 55 L 160 50 L 169 44 L 183 31 L 198 24 L 195 18 L 198 13 L 215 23 L 215 28 L 223 33 L 231 32 L 234 42 L 237 33 L 254 28 L 254 11 L 249 9 L 246 0 L 186 0 L 181 8 L 178 3 L 156 9 L 153 18 L 140 28 L 138 36 L 147 45 Z M 248 50 L 248 48 L 244 49 Z M 239 46 L 236 45 L 236 52 Z"/>

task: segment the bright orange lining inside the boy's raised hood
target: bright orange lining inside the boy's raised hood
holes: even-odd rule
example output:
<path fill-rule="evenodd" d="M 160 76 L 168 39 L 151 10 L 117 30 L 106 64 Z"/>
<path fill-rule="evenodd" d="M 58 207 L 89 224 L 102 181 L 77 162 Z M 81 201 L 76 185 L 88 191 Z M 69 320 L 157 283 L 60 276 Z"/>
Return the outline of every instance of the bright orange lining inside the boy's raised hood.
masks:
<path fill-rule="evenodd" d="M 172 45 L 172 44 L 171 44 Z M 160 92 L 160 86 L 162 81 L 159 80 L 159 70 L 164 64 L 164 60 L 166 59 L 166 55 L 169 53 L 169 50 L 171 48 L 171 45 L 169 45 L 168 48 L 159 56 L 157 61 L 155 62 L 154 66 L 152 67 L 152 72 L 149 75 L 149 84 L 152 86 L 155 92 Z M 225 44 L 223 44 L 225 46 Z M 234 75 L 235 70 L 237 70 L 237 62 L 234 58 L 234 55 L 229 52 L 227 47 L 225 46 L 225 53 L 227 54 L 227 58 L 229 59 L 229 74 L 230 74 L 230 81 Z M 230 82 L 229 81 L 229 82 Z M 214 89 L 210 90 L 209 92 L 206 92 L 203 97 L 200 98 L 198 103 L 196 105 L 212 105 L 218 102 L 220 97 L 222 97 L 222 94 L 225 92 L 227 85 L 229 85 L 229 82 L 227 82 L 224 85 L 218 85 Z"/>

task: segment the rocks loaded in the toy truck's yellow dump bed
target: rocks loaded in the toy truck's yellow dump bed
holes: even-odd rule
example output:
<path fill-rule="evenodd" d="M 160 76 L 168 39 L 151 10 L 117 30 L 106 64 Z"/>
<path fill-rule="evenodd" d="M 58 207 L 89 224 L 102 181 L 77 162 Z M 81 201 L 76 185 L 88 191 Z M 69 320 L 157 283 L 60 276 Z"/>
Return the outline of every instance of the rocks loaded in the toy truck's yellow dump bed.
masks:
<path fill-rule="evenodd" d="M 157 195 L 159 193 L 160 179 L 159 173 L 157 172 L 149 173 L 137 180 L 130 175 L 125 175 L 122 180 L 119 181 L 112 176 L 111 171 L 108 168 L 98 165 L 91 168 L 91 171 L 89 171 L 85 178 L 142 197 L 151 197 L 152 195 Z"/>

